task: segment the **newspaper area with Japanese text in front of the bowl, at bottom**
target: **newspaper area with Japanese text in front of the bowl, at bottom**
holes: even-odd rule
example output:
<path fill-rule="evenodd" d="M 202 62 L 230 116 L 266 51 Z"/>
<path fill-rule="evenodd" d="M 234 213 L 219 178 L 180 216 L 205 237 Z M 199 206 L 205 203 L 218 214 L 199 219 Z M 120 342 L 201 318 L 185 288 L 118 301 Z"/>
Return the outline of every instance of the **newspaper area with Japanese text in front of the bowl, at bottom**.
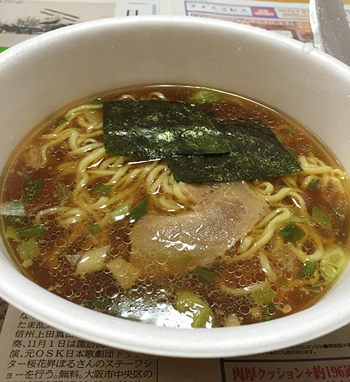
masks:
<path fill-rule="evenodd" d="M 1 305 L 0 312 L 3 317 Z M 10 306 L 0 335 L 0 381 L 349 382 L 349 332 L 350 325 L 306 344 L 243 358 L 167 358 L 94 344 Z"/>

